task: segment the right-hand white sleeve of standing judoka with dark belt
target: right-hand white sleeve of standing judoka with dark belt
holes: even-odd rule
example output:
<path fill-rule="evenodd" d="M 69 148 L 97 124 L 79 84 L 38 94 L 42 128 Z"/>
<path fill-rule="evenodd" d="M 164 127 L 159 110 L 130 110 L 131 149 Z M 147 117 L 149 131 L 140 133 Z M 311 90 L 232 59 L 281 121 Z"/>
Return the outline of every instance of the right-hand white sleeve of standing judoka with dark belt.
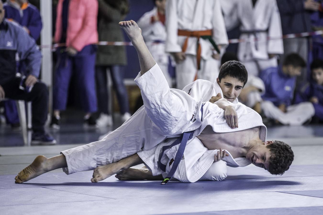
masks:
<path fill-rule="evenodd" d="M 280 14 L 277 7 L 276 0 L 272 0 L 273 7 L 271 8 L 271 19 L 268 29 L 268 36 L 270 38 L 278 38 L 268 40 L 267 52 L 268 54 L 283 54 L 284 46 L 282 39 L 282 27 L 280 21 Z"/>

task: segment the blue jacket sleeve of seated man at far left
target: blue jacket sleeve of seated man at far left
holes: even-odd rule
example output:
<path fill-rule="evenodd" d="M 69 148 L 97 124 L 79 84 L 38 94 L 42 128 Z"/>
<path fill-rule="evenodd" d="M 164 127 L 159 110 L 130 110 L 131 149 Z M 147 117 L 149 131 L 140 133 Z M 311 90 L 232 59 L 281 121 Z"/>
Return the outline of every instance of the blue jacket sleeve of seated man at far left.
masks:
<path fill-rule="evenodd" d="M 26 60 L 26 69 L 28 74 L 32 74 L 38 78 L 42 55 L 36 45 L 36 42 L 23 28 L 16 27 L 15 29 L 18 31 L 16 34 L 16 41 L 19 58 L 20 60 Z"/>

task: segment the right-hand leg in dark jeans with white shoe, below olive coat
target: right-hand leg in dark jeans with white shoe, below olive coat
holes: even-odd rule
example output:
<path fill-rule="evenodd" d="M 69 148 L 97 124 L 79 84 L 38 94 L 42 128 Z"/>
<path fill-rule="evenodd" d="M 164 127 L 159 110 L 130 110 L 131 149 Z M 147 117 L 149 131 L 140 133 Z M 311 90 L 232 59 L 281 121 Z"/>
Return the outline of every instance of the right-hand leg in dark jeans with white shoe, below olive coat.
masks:
<path fill-rule="evenodd" d="M 131 114 L 129 110 L 129 99 L 126 86 L 123 83 L 124 67 L 119 65 L 109 66 L 113 88 L 116 90 L 117 99 L 120 106 L 121 119 L 127 121 Z"/>

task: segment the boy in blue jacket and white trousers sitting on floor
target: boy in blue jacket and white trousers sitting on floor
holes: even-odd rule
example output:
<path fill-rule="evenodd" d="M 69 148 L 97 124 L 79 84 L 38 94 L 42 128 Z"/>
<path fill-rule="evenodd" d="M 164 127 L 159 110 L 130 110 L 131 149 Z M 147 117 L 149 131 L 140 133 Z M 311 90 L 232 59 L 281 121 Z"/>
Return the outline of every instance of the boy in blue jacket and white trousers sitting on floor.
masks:
<path fill-rule="evenodd" d="M 260 73 L 266 93 L 262 96 L 264 115 L 284 125 L 302 125 L 314 115 L 310 102 L 292 104 L 296 77 L 301 75 L 305 61 L 298 54 L 289 54 L 279 67 L 271 67 Z"/>

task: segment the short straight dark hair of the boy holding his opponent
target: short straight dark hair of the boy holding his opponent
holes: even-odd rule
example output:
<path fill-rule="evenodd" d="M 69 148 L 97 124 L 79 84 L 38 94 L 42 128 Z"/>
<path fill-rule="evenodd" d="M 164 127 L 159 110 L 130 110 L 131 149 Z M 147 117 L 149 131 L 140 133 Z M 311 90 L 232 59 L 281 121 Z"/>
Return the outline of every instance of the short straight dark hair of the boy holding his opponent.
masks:
<path fill-rule="evenodd" d="M 248 81 L 248 72 L 245 65 L 239 61 L 227 61 L 221 66 L 219 72 L 219 81 L 221 82 L 221 79 L 228 75 L 243 82 L 244 86 Z"/>

